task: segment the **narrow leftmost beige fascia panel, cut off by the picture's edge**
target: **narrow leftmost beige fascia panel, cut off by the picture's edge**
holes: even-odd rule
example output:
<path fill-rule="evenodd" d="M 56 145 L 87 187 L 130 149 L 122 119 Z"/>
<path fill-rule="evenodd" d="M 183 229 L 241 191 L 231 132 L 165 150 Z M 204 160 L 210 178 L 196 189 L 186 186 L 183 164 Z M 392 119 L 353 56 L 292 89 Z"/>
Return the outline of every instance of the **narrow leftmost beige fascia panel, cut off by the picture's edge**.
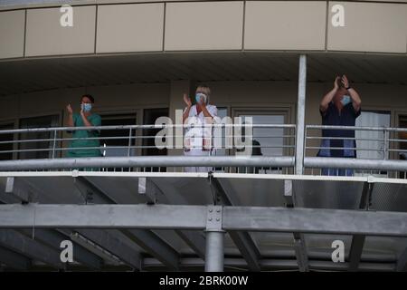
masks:
<path fill-rule="evenodd" d="M 24 56 L 25 11 L 0 13 L 0 58 Z"/>

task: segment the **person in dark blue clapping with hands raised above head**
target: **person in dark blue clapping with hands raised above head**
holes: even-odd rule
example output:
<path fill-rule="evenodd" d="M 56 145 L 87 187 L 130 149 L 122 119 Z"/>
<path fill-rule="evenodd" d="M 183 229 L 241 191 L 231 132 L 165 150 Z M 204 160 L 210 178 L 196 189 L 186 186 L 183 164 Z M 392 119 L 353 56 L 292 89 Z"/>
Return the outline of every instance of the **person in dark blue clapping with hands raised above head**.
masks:
<path fill-rule="evenodd" d="M 345 74 L 337 76 L 334 88 L 327 92 L 319 105 L 322 125 L 355 126 L 360 116 L 362 100 L 350 86 Z M 319 157 L 356 158 L 354 130 L 323 130 Z M 330 139 L 334 137 L 335 139 Z M 341 139 L 344 138 L 344 139 Z M 323 175 L 353 176 L 352 169 L 323 169 Z"/>

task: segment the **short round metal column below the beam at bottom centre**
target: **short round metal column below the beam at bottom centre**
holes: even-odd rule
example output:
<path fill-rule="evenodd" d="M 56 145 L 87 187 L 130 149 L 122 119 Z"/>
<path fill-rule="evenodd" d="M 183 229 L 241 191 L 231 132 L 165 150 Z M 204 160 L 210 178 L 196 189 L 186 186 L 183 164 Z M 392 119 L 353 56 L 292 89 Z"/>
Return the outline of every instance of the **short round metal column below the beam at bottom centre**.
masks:
<path fill-rule="evenodd" d="M 222 231 L 206 232 L 205 272 L 223 272 Z"/>

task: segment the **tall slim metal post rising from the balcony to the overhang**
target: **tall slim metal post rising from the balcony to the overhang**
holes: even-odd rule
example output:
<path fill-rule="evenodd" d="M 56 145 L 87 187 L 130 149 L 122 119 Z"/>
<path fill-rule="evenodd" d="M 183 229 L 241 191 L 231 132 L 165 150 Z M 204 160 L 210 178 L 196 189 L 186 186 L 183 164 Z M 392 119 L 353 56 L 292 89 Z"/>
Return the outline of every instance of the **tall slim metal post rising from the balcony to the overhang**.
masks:
<path fill-rule="evenodd" d="M 298 69 L 296 174 L 304 173 L 306 83 L 307 83 L 307 55 L 301 54 L 299 55 L 299 69 Z"/>

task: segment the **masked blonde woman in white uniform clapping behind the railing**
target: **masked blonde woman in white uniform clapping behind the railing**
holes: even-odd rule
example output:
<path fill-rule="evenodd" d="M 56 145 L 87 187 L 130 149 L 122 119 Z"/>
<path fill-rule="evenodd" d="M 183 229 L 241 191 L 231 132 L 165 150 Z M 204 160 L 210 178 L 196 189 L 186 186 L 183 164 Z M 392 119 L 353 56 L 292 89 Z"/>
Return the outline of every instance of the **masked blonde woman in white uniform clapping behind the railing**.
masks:
<path fill-rule="evenodd" d="M 186 108 L 183 114 L 184 124 L 194 124 L 194 128 L 187 129 L 185 133 L 185 156 L 211 156 L 213 155 L 212 127 L 208 126 L 216 121 L 218 109 L 209 104 L 211 89 L 206 85 L 196 88 L 195 104 L 184 94 Z M 205 126 L 206 125 L 206 126 Z M 210 167 L 185 167 L 185 172 L 209 172 Z"/>

